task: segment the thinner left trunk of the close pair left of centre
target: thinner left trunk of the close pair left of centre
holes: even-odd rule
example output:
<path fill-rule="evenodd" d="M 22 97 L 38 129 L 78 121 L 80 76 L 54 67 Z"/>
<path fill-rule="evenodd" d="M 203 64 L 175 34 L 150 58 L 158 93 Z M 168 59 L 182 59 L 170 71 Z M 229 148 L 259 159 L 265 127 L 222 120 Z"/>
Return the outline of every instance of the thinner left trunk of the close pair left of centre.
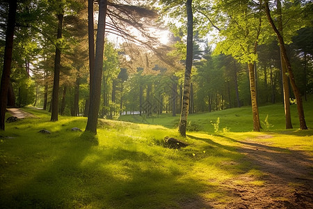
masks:
<path fill-rule="evenodd" d="M 88 48 L 89 48 L 89 95 L 93 88 L 93 73 L 95 69 L 95 33 L 93 22 L 93 0 L 88 0 Z M 90 102 L 92 100 L 89 100 Z M 88 104 L 88 107 L 90 104 Z M 88 109 L 89 110 L 89 109 Z"/>

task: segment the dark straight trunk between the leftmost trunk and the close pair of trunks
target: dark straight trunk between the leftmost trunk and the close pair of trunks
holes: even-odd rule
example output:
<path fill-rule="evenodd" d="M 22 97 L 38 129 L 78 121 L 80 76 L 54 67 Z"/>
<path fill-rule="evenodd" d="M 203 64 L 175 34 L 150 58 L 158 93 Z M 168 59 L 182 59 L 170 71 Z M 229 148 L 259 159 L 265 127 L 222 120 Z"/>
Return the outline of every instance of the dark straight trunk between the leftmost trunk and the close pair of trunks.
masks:
<path fill-rule="evenodd" d="M 63 13 L 58 14 L 58 34 L 57 39 L 62 38 L 63 28 Z M 61 70 L 61 50 L 60 46 L 56 45 L 56 57 L 54 59 L 54 88 L 52 90 L 52 109 L 51 109 L 51 120 L 58 121 L 58 85 L 60 83 L 60 70 Z"/>

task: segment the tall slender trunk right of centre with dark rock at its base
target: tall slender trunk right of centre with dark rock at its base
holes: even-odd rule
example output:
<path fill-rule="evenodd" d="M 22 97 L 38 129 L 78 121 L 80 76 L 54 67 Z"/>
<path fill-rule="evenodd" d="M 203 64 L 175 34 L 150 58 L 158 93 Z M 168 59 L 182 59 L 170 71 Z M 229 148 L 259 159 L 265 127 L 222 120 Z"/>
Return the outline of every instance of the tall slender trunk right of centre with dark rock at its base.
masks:
<path fill-rule="evenodd" d="M 189 107 L 189 93 L 191 84 L 191 67 L 193 65 L 193 10 L 192 0 L 186 2 L 187 12 L 187 50 L 186 50 L 186 69 L 184 78 L 184 96 L 182 101 L 182 113 L 180 115 L 179 133 L 186 137 L 186 126 Z"/>

